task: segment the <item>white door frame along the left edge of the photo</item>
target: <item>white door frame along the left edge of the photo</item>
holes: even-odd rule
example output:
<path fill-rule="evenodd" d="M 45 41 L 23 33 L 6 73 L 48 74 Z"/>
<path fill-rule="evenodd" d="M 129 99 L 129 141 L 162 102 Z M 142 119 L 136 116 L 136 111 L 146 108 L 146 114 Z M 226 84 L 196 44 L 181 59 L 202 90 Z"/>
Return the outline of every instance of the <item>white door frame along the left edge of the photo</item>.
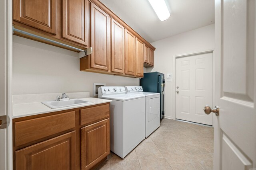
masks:
<path fill-rule="evenodd" d="M 3 46 L 0 46 L 0 51 L 4 52 L 4 62 L 5 62 L 5 69 L 4 69 L 4 107 L 5 113 L 4 115 L 8 115 L 10 117 L 10 125 L 6 128 L 6 139 L 5 139 L 5 146 L 6 149 L 4 150 L 6 158 L 5 158 L 5 168 L 6 170 L 12 170 L 13 168 L 13 161 L 12 161 L 12 0 L 3 0 L 1 4 L 2 6 L 0 14 L 3 18 L 4 24 L 4 38 L 1 39 Z M 1 77 L 2 80 L 2 77 Z M 2 89 L 1 89 L 2 93 Z M 2 114 L 2 113 L 1 113 Z M 3 129 L 2 129 L 3 130 Z M 1 130 L 0 130 L 1 131 Z"/>

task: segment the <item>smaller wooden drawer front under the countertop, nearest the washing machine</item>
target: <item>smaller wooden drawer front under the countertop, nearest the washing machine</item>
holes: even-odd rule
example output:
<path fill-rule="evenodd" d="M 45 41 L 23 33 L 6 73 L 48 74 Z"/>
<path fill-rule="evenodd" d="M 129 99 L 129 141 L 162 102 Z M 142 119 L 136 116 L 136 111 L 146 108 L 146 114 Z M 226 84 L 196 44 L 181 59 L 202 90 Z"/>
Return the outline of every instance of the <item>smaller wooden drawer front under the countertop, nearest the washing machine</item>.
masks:
<path fill-rule="evenodd" d="M 80 125 L 109 117 L 109 104 L 80 110 Z"/>

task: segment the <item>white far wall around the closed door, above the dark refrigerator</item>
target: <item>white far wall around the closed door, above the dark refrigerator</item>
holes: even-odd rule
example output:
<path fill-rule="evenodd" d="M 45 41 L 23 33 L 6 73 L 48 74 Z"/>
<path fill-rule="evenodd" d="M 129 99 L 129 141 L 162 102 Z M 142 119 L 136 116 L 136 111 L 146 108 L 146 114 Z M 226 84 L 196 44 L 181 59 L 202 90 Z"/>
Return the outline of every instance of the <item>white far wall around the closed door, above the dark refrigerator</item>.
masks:
<path fill-rule="evenodd" d="M 151 44 L 156 48 L 154 51 L 154 68 L 147 68 L 147 72 L 157 71 L 165 75 L 167 73 L 174 74 L 173 59 L 175 55 L 214 49 L 214 24 L 155 41 Z M 173 79 L 175 79 L 175 75 L 173 75 Z M 165 117 L 170 119 L 174 116 L 173 86 L 173 82 L 165 83 L 164 111 Z"/>

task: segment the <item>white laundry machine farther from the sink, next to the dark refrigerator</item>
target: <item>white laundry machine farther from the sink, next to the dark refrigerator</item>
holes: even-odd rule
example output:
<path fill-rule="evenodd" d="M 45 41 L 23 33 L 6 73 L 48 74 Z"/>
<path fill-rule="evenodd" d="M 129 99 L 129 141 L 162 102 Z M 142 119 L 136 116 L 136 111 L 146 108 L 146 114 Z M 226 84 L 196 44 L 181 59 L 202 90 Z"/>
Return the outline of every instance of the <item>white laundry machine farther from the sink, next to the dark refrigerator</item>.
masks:
<path fill-rule="evenodd" d="M 145 96 L 145 137 L 160 127 L 160 93 L 143 92 L 142 86 L 125 86 L 127 94 Z"/>

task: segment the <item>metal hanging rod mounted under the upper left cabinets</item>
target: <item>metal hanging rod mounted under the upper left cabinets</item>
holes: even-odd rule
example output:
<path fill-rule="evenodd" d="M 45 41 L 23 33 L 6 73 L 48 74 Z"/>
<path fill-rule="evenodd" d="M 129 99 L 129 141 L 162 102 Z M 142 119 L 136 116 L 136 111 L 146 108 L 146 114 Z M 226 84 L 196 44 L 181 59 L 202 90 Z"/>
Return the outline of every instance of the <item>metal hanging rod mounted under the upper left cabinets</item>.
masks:
<path fill-rule="evenodd" d="M 78 49 L 78 48 L 76 48 L 76 47 L 72 47 L 72 46 L 70 46 L 70 45 L 66 45 L 66 44 L 60 43 L 60 42 L 58 42 L 58 41 L 54 41 L 54 40 L 51 40 L 51 39 L 48 39 L 48 38 L 44 38 L 44 37 L 41 37 L 41 36 L 39 36 L 39 35 L 35 35 L 35 34 L 29 33 L 29 32 L 26 32 L 26 31 L 22 31 L 22 30 L 20 30 L 20 29 L 17 29 L 17 28 L 12 27 L 12 34 L 14 34 L 14 31 L 19 32 L 19 33 L 22 33 L 22 34 L 25 34 L 25 35 L 29 35 L 29 36 L 32 36 L 32 37 L 36 37 L 36 38 L 42 39 L 42 40 L 44 40 L 44 41 L 48 41 L 48 42 L 51 42 L 51 43 L 55 43 L 55 44 L 58 44 L 58 45 L 62 45 L 62 46 L 64 46 L 64 47 L 68 47 L 68 48 L 70 48 L 70 49 L 75 49 L 75 50 L 77 50 L 77 51 L 84 52 L 84 56 L 83 56 L 83 57 L 85 57 L 86 55 L 89 55 L 89 54 L 92 53 L 92 47 L 90 47 L 90 48 L 88 48 L 88 49 L 86 49 L 86 50 L 82 50 L 82 49 Z M 79 57 L 79 58 L 82 58 L 82 57 Z"/>

